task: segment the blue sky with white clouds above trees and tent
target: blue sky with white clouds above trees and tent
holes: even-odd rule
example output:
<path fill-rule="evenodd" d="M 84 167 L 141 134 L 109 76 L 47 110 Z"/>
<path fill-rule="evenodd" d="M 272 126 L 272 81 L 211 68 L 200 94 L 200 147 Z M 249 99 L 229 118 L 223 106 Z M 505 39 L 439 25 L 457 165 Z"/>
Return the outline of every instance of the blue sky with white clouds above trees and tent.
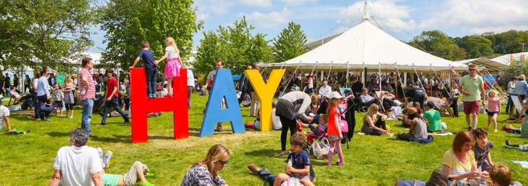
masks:
<path fill-rule="evenodd" d="M 254 33 L 267 34 L 272 40 L 287 23 L 301 25 L 308 40 L 317 40 L 350 29 L 363 15 L 365 1 L 344 0 L 195 0 L 199 20 L 205 23 L 193 37 L 195 47 L 203 31 L 232 25 L 245 16 L 255 27 Z M 374 0 L 369 14 L 382 30 L 400 40 L 410 40 L 424 30 L 441 30 L 449 36 L 483 32 L 528 30 L 528 3 L 523 0 Z M 96 32 L 91 52 L 101 52 L 104 32 Z M 270 43 L 272 45 L 272 43 Z"/>

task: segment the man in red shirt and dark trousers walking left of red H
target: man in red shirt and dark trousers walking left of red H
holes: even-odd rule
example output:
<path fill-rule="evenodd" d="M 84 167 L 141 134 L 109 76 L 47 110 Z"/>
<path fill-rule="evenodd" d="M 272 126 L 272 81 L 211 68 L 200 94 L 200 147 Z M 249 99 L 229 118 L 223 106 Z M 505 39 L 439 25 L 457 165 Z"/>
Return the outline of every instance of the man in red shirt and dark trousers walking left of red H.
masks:
<path fill-rule="evenodd" d="M 123 111 L 121 111 L 121 108 L 119 106 L 119 100 L 118 100 L 118 96 L 119 96 L 119 84 L 118 84 L 118 80 L 115 79 L 115 73 L 113 73 L 113 69 L 107 69 L 107 77 L 108 77 L 108 80 L 107 80 L 107 92 L 104 93 L 104 109 L 102 111 L 102 121 L 101 121 L 101 125 L 104 126 L 105 124 L 107 124 L 107 113 L 108 113 L 108 108 L 110 108 L 111 106 L 113 106 L 113 108 L 115 109 L 115 111 L 117 111 L 121 117 L 123 117 L 124 119 L 124 123 L 125 124 L 128 124 L 129 123 L 129 117 L 126 117 L 126 115 L 124 115 Z"/>

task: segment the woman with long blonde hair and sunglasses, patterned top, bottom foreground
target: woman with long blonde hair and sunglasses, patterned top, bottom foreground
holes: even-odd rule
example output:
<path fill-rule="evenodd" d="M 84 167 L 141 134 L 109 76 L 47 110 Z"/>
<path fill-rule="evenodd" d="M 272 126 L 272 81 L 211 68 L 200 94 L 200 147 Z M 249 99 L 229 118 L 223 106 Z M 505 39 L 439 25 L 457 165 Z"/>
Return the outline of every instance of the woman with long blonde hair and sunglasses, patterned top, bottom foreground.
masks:
<path fill-rule="evenodd" d="M 229 161 L 231 152 L 225 146 L 214 145 L 207 152 L 206 159 L 195 163 L 184 176 L 181 186 L 186 185 L 228 185 L 218 172 Z"/>

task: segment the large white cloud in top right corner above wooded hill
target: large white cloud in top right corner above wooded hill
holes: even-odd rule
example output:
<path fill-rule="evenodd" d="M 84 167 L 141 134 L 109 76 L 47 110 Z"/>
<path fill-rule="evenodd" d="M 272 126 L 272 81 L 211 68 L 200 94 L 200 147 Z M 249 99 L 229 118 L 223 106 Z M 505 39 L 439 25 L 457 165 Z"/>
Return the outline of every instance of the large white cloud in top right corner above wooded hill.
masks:
<path fill-rule="evenodd" d="M 459 30 L 481 34 L 528 29 L 528 3 L 524 0 L 482 1 L 449 0 L 443 11 L 420 23 L 420 27 L 456 27 Z"/>

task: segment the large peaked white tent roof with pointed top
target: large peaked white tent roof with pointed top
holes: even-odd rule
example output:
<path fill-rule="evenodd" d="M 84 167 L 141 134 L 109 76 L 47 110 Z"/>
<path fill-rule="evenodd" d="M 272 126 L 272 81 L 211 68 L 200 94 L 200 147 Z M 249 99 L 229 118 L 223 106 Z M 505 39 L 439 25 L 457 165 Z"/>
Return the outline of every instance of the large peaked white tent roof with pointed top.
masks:
<path fill-rule="evenodd" d="M 311 69 L 382 69 L 412 71 L 448 71 L 467 69 L 466 65 L 452 62 L 411 47 L 401 40 L 375 27 L 365 14 L 363 22 L 344 32 L 337 38 L 301 56 L 285 62 L 267 64 L 269 67 L 297 67 Z M 348 65 L 347 65 L 348 64 Z"/>

